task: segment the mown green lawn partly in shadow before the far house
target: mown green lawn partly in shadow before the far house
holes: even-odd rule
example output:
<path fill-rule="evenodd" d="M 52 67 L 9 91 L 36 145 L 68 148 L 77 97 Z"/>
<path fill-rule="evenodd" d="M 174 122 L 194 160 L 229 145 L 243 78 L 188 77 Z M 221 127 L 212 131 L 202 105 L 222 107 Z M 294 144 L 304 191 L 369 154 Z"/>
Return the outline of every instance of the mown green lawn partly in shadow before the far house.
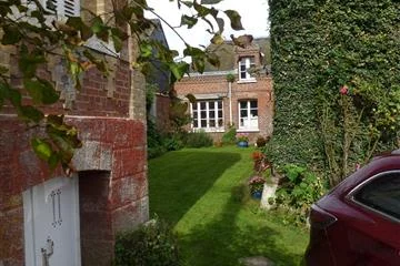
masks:
<path fill-rule="evenodd" d="M 243 193 L 252 149 L 186 149 L 149 161 L 150 213 L 178 233 L 186 265 L 238 265 L 266 256 L 298 265 L 308 232 L 284 226 Z"/>

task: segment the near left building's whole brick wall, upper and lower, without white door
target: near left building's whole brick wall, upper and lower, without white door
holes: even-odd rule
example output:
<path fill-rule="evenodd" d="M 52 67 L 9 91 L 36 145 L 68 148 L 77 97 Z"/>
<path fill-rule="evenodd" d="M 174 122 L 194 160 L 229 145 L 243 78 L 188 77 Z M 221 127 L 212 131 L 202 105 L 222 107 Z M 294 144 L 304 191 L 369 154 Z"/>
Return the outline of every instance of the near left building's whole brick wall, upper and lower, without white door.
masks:
<path fill-rule="evenodd" d="M 16 60 L 14 55 L 11 60 Z M 146 120 L 141 116 L 129 117 L 132 83 L 137 81 L 132 81 L 133 74 L 128 62 L 109 60 L 113 62 L 114 71 L 108 78 L 92 69 L 84 73 L 80 92 L 67 93 L 66 96 L 66 91 L 61 90 L 63 100 L 42 109 L 46 113 L 66 114 L 67 122 L 78 127 L 83 141 L 83 147 L 76 152 L 73 165 L 82 176 L 80 219 L 84 265 L 110 265 L 116 233 L 138 226 L 149 215 Z M 11 70 L 14 69 L 12 65 Z M 40 70 L 40 75 L 51 80 L 53 71 L 48 65 Z M 12 82 L 18 85 L 18 80 Z M 137 94 L 133 109 L 140 112 L 143 110 L 144 113 L 144 92 L 140 92 L 140 88 L 144 86 L 134 84 Z M 27 93 L 22 94 L 24 103 L 29 103 Z M 10 105 L 2 109 L 0 265 L 24 265 L 22 192 L 46 180 L 63 175 L 61 170 L 51 173 L 48 165 L 32 152 L 29 143 L 31 136 L 37 134 L 42 133 L 27 130 L 17 120 Z M 87 180 L 88 171 L 91 173 L 90 181 Z M 88 206 L 96 201 L 101 208 L 99 212 L 90 212 Z M 98 223 L 93 221 L 94 217 L 99 218 Z"/>

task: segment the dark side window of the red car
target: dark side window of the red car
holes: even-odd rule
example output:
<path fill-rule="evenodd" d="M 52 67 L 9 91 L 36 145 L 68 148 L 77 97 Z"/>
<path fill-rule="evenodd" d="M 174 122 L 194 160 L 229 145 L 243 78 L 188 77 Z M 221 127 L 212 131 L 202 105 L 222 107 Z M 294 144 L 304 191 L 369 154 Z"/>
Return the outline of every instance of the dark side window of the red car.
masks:
<path fill-rule="evenodd" d="M 370 208 L 400 219 L 400 173 L 389 173 L 366 184 L 354 200 Z"/>

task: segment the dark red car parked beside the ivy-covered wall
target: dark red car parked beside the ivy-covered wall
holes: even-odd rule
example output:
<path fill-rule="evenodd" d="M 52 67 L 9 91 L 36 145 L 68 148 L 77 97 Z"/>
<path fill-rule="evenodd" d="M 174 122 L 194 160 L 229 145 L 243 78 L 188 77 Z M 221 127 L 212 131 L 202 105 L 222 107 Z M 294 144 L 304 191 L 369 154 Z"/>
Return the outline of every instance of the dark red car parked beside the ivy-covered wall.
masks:
<path fill-rule="evenodd" d="M 309 266 L 400 265 L 400 151 L 373 158 L 311 207 Z"/>

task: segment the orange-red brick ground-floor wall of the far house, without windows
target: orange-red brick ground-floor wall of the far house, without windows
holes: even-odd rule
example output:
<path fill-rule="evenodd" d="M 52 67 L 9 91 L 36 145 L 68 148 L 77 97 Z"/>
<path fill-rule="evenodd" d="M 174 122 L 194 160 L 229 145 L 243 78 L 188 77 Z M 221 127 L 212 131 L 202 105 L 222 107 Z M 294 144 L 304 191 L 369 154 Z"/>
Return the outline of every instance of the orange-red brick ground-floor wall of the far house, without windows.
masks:
<path fill-rule="evenodd" d="M 238 101 L 258 100 L 259 132 L 250 133 L 250 141 L 254 142 L 257 136 L 269 136 L 272 134 L 273 96 L 271 76 L 257 76 L 257 82 L 242 83 L 232 82 L 232 122 L 238 129 L 239 114 Z M 197 75 L 184 78 L 174 85 L 179 96 L 184 98 L 192 94 L 223 94 L 223 115 L 226 130 L 229 124 L 229 99 L 228 82 L 226 75 Z M 216 141 L 220 140 L 223 133 L 212 133 Z"/>

